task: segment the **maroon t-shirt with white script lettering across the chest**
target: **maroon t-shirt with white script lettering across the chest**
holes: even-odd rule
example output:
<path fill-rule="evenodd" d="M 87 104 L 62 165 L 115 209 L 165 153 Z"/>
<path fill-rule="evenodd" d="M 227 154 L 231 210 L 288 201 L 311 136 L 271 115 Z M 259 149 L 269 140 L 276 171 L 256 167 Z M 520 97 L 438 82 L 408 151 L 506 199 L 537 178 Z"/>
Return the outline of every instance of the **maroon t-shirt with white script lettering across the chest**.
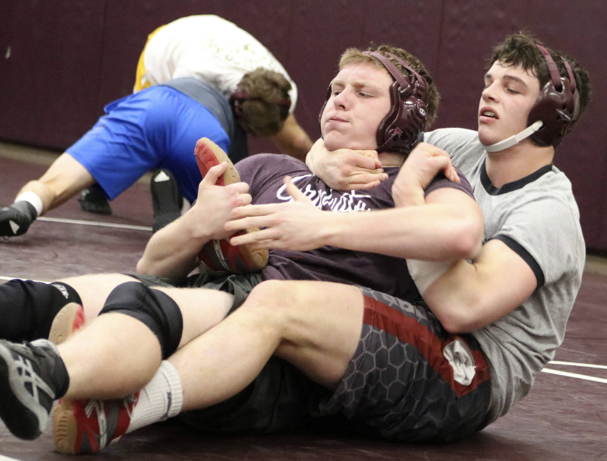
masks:
<path fill-rule="evenodd" d="M 393 208 L 392 183 L 400 168 L 384 168 L 388 179 L 376 188 L 365 191 L 335 191 L 312 174 L 305 163 L 288 155 L 256 154 L 236 164 L 240 180 L 248 183 L 249 194 L 255 205 L 282 203 L 291 200 L 285 191 L 283 178 L 290 176 L 293 183 L 320 210 L 362 212 Z M 463 176 L 460 177 L 463 178 Z M 454 186 L 472 196 L 466 179 L 463 186 L 447 179 L 437 178 L 432 190 Z M 430 190 L 430 188 L 428 189 Z M 320 247 L 310 251 L 270 250 L 263 278 L 279 280 L 319 280 L 348 285 L 362 285 L 405 301 L 421 297 L 407 270 L 407 262 L 367 251 Z"/>

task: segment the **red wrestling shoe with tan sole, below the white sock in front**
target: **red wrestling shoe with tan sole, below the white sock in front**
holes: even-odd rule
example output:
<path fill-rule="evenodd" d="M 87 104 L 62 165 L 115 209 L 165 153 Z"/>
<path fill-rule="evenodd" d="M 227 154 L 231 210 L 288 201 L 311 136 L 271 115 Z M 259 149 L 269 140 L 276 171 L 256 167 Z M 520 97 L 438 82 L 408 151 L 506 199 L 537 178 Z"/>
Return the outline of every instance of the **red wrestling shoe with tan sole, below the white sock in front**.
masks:
<path fill-rule="evenodd" d="M 97 453 L 126 434 L 137 394 L 120 400 L 70 400 L 53 408 L 55 449 L 65 454 Z"/>

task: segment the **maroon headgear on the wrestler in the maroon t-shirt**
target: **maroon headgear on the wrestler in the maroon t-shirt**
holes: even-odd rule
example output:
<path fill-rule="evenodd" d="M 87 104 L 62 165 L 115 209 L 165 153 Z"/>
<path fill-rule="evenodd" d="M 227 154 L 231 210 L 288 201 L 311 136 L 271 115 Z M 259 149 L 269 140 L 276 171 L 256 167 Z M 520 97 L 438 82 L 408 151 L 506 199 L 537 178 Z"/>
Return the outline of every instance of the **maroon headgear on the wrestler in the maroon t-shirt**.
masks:
<path fill-rule="evenodd" d="M 427 118 L 427 90 L 426 81 L 404 63 L 398 56 L 392 53 L 386 55 L 398 61 L 410 75 L 404 75 L 398 68 L 380 53 L 365 51 L 364 55 L 373 56 L 390 72 L 395 79 L 390 86 L 390 110 L 379 123 L 376 135 L 378 152 L 399 152 L 409 154 L 419 140 L 419 133 L 426 128 Z M 322 112 L 331 97 L 331 86 L 327 89 L 327 98 L 320 109 L 319 123 Z"/>

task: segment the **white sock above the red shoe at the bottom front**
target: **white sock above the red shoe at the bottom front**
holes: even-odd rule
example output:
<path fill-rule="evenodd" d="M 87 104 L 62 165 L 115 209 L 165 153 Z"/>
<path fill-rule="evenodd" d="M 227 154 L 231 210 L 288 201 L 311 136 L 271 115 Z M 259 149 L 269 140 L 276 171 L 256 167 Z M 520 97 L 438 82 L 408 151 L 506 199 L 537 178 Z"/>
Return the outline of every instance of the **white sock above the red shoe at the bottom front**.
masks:
<path fill-rule="evenodd" d="M 139 400 L 131 414 L 131 423 L 126 433 L 178 415 L 181 403 L 183 392 L 177 370 L 163 360 L 154 378 L 139 392 Z"/>

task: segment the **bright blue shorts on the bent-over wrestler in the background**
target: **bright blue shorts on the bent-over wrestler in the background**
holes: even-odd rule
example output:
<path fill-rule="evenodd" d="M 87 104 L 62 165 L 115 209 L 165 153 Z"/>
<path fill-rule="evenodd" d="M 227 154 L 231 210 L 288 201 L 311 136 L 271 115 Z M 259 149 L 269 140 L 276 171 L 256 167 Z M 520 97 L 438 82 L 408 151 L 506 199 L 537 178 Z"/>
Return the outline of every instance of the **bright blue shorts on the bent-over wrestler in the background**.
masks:
<path fill-rule="evenodd" d="M 167 168 L 190 202 L 202 180 L 194 157 L 207 137 L 225 152 L 229 137 L 202 104 L 168 86 L 152 86 L 107 104 L 106 115 L 66 150 L 112 200 L 145 172 Z"/>

